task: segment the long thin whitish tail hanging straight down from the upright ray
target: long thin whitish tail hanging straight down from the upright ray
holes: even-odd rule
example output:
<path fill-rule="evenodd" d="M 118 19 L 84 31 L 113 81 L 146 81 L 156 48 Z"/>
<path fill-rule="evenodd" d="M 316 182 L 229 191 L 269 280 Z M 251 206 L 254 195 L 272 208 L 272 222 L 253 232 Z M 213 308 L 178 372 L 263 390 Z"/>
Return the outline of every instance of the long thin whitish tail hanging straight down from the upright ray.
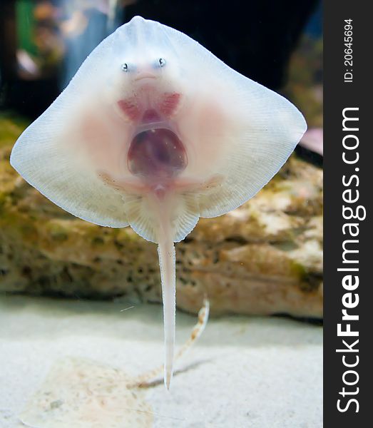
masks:
<path fill-rule="evenodd" d="M 163 318 L 165 328 L 165 386 L 170 389 L 173 376 L 173 354 L 175 347 L 175 247 L 168 228 L 162 228 L 158 240 L 160 279 L 162 281 Z"/>

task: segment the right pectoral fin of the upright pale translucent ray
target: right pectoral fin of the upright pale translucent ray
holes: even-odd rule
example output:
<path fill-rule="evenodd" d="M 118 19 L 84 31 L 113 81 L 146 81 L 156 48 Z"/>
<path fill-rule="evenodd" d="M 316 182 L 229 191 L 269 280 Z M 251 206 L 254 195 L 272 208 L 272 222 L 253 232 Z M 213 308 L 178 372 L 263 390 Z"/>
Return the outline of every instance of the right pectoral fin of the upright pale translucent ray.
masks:
<path fill-rule="evenodd" d="M 185 174 L 203 181 L 223 176 L 215 192 L 200 195 L 200 215 L 228 213 L 277 173 L 305 133 L 305 119 L 284 97 L 237 73 L 190 37 L 160 29 L 180 53 L 185 76 L 188 109 L 177 114 L 188 151 Z"/>

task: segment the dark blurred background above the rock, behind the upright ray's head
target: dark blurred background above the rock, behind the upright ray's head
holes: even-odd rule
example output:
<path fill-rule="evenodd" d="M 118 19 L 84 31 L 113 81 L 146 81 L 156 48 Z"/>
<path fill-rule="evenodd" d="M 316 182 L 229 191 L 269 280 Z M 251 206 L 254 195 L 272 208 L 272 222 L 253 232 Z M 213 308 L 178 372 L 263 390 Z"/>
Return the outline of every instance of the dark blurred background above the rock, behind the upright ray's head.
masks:
<path fill-rule="evenodd" d="M 136 15 L 183 31 L 240 73 L 284 93 L 317 130 L 307 136 L 308 149 L 322 143 L 317 0 L 1 0 L 0 108 L 39 116 L 91 50 Z"/>

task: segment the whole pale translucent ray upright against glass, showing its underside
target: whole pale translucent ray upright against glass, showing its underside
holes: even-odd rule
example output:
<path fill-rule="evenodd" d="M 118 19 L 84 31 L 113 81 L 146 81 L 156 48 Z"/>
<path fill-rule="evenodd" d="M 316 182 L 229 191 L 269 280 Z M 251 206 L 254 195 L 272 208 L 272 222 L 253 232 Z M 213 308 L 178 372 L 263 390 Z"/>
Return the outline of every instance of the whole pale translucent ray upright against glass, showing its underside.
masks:
<path fill-rule="evenodd" d="M 86 58 L 24 131 L 11 165 L 83 220 L 158 243 L 165 385 L 175 343 L 175 248 L 200 217 L 252 198 L 307 126 L 287 99 L 185 34 L 139 16 Z"/>

